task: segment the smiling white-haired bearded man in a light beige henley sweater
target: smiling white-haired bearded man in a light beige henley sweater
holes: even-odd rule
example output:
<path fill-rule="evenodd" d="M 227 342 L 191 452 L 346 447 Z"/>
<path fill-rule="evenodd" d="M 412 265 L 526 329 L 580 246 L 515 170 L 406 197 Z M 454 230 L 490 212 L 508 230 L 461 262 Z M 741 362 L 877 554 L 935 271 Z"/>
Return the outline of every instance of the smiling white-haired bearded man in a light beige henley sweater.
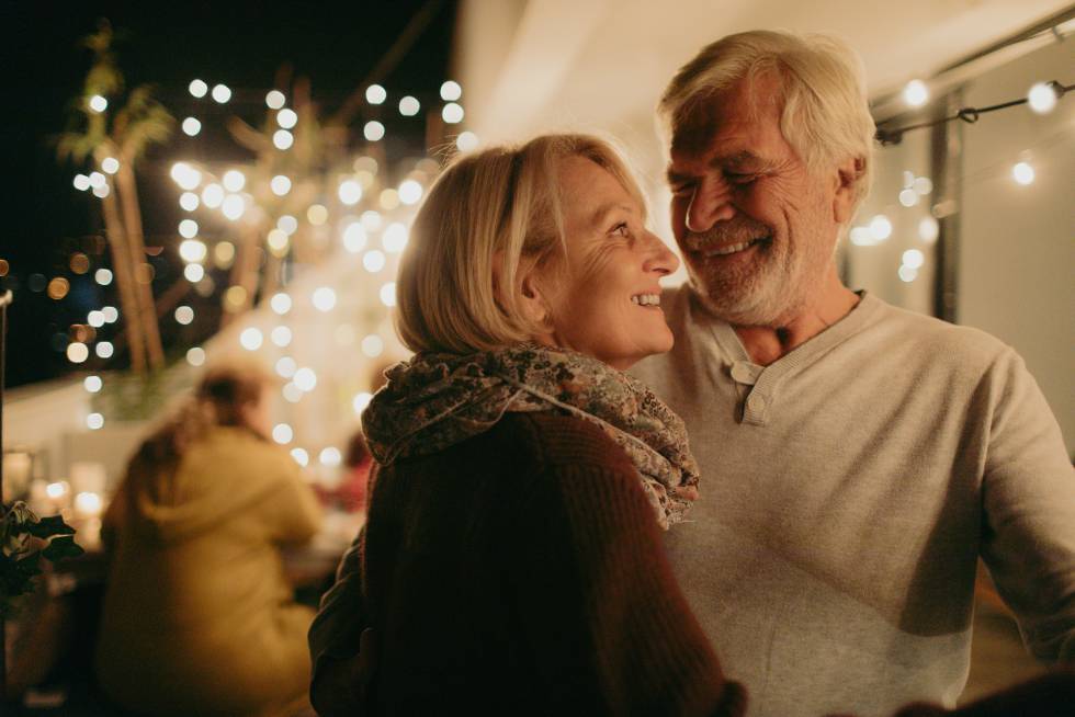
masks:
<path fill-rule="evenodd" d="M 857 57 L 732 35 L 672 78 L 676 348 L 636 375 L 686 419 L 702 498 L 668 548 L 751 715 L 952 705 L 982 556 L 1040 659 L 1075 653 L 1075 478 L 1022 360 L 841 283 L 871 172 Z"/>

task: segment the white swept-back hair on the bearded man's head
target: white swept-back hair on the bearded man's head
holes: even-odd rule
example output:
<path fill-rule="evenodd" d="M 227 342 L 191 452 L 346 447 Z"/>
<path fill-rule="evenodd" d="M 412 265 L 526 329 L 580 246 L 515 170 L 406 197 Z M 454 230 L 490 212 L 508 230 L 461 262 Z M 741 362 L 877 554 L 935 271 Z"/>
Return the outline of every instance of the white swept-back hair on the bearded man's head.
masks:
<path fill-rule="evenodd" d="M 657 105 L 666 145 L 708 101 L 758 76 L 779 80 L 780 130 L 813 171 L 856 160 L 855 208 L 869 193 L 875 126 L 862 60 L 821 34 L 756 30 L 708 45 L 669 82 Z"/>

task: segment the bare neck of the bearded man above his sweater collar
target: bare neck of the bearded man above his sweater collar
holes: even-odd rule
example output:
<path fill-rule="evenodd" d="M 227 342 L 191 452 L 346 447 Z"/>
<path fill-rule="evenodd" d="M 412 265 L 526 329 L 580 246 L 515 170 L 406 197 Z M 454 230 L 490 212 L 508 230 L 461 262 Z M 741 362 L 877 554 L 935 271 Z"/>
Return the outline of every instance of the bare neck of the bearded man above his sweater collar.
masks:
<path fill-rule="evenodd" d="M 844 286 L 835 271 L 815 301 L 773 326 L 733 326 L 750 360 L 761 366 L 781 358 L 833 326 L 859 303 L 859 296 Z"/>

